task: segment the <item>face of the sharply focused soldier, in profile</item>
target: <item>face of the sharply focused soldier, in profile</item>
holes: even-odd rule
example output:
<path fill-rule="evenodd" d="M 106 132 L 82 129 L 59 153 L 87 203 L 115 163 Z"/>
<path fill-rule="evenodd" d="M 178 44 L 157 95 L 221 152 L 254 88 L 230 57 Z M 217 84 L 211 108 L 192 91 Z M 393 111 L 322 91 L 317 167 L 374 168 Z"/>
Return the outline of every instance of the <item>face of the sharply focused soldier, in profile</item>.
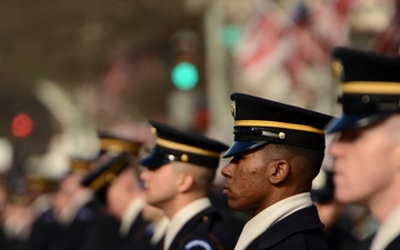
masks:
<path fill-rule="evenodd" d="M 270 183 L 264 153 L 256 150 L 237 154 L 222 168 L 223 193 L 231 209 L 258 213 L 268 207 Z"/>

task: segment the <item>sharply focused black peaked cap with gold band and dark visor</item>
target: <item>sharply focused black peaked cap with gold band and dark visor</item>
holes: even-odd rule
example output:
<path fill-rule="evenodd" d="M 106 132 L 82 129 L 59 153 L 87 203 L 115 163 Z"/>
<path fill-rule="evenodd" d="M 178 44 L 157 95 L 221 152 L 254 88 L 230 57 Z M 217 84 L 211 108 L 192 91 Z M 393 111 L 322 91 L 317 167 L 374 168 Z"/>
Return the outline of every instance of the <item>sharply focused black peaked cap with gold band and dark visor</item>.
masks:
<path fill-rule="evenodd" d="M 231 94 L 234 142 L 223 158 L 268 142 L 324 151 L 323 128 L 331 116 L 246 93 Z"/>

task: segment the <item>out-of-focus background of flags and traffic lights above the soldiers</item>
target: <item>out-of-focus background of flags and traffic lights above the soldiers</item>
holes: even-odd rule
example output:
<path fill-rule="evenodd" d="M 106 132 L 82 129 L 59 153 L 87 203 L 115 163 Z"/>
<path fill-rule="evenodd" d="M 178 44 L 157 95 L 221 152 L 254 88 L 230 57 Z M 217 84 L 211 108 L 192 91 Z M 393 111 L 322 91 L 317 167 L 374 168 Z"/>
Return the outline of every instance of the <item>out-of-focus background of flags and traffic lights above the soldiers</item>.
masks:
<path fill-rule="evenodd" d="M 230 93 L 336 114 L 336 46 L 399 51 L 398 0 L 3 0 L 0 171 L 57 178 L 148 119 L 232 140 Z"/>

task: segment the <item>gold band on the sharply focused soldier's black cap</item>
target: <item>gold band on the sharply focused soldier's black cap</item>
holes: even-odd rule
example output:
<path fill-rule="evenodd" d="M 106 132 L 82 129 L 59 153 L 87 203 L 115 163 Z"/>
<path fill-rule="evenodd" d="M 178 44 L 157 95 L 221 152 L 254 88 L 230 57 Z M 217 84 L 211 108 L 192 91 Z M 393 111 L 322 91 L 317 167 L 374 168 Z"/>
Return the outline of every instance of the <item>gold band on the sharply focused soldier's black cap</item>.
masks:
<path fill-rule="evenodd" d="M 237 120 L 234 126 L 239 127 L 271 127 L 271 128 L 282 128 L 282 129 L 292 129 L 300 130 L 312 133 L 323 133 L 323 130 L 317 129 L 311 126 L 287 123 L 280 121 L 260 121 L 260 120 Z"/>

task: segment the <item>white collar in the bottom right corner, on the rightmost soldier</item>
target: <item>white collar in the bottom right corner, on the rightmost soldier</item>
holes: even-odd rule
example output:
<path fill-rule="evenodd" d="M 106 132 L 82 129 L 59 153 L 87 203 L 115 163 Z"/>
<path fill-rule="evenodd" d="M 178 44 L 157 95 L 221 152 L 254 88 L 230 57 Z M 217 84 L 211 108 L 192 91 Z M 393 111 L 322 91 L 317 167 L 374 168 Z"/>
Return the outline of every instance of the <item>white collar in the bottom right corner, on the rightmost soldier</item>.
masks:
<path fill-rule="evenodd" d="M 400 206 L 379 226 L 372 240 L 371 250 L 381 250 L 389 246 L 400 234 Z"/>

